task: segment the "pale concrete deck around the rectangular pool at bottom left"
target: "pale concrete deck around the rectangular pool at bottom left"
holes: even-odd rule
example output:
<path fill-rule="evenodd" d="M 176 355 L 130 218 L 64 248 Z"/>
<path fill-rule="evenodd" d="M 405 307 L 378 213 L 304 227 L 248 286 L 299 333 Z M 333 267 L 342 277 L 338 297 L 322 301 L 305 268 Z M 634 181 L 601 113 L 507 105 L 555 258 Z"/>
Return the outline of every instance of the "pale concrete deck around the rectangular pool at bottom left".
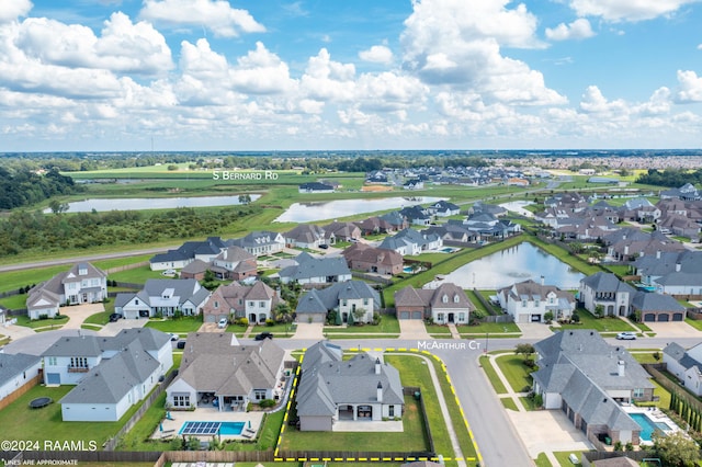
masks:
<path fill-rule="evenodd" d="M 173 420 L 163 419 L 161 424 L 156 428 L 156 431 L 151 434 L 151 440 L 169 440 L 178 436 L 178 432 L 185 422 L 245 422 L 245 431 L 239 435 L 222 435 L 224 440 L 251 440 L 256 436 L 261 424 L 263 422 L 264 412 L 220 412 L 215 408 L 200 408 L 193 411 L 184 410 L 171 410 L 170 414 Z M 251 422 L 251 431 L 247 433 L 249 426 L 248 422 Z M 161 425 L 163 431 L 161 431 Z M 250 435 L 247 437 L 245 435 Z M 197 436 L 203 440 L 210 440 L 212 436 Z"/>

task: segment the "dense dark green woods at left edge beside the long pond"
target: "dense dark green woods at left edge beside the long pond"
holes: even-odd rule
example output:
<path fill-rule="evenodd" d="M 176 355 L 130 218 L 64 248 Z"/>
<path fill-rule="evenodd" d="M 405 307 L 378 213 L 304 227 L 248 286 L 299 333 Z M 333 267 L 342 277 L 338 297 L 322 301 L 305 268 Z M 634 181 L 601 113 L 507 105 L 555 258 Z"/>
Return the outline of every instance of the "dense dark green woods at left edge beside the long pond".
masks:
<path fill-rule="evenodd" d="M 73 184 L 73 179 L 61 175 L 56 169 L 39 175 L 29 170 L 10 172 L 0 167 L 0 209 L 27 206 L 78 191 L 80 187 Z"/>

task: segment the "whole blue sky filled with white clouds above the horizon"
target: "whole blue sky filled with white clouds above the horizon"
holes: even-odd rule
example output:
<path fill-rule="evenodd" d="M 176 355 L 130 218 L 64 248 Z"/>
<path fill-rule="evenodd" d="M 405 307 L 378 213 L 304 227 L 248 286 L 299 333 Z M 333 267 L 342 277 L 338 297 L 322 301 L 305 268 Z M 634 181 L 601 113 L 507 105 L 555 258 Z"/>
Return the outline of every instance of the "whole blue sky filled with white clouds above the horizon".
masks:
<path fill-rule="evenodd" d="M 697 0 L 2 0 L 0 150 L 702 147 Z"/>

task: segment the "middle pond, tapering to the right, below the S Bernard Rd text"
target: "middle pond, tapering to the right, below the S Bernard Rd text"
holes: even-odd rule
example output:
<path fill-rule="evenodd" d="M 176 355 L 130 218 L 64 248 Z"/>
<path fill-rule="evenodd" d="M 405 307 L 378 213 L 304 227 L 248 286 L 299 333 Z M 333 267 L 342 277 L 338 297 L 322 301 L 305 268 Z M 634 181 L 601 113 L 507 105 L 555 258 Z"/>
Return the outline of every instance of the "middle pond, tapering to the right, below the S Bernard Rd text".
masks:
<path fill-rule="evenodd" d="M 401 209 L 417 204 L 435 203 L 444 197 L 412 196 L 383 197 L 373 200 L 336 200 L 310 203 L 293 203 L 276 223 L 309 223 L 314 220 L 337 219 L 355 214 L 375 213 L 386 209 Z"/>

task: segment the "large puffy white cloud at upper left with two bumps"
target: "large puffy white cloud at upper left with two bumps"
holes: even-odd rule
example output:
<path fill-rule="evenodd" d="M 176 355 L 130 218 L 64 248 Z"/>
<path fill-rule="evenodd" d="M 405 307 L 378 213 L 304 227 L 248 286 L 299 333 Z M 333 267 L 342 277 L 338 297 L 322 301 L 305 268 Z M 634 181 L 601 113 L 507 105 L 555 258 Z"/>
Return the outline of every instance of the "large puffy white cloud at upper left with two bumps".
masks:
<path fill-rule="evenodd" d="M 149 23 L 133 24 L 124 13 L 113 13 L 100 37 L 79 24 L 30 18 L 16 30 L 15 44 L 27 59 L 46 65 L 143 75 L 173 67 L 163 36 Z"/>

